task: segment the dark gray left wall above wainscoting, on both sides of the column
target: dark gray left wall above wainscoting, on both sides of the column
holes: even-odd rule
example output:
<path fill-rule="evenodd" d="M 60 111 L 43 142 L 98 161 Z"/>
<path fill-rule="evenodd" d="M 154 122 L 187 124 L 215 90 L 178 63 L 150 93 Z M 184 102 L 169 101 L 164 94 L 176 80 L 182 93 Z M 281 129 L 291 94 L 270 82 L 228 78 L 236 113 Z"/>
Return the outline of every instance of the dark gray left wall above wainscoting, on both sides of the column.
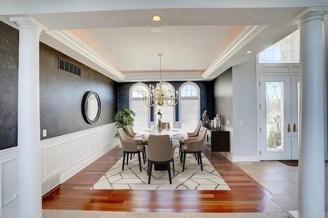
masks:
<path fill-rule="evenodd" d="M 0 150 L 17 146 L 18 30 L 0 22 Z M 81 68 L 81 76 L 58 69 L 58 57 Z M 116 82 L 67 55 L 40 43 L 40 138 L 44 140 L 114 122 Z M 81 101 L 96 91 L 99 120 L 85 122 Z M 42 137 L 42 130 L 47 136 Z"/>

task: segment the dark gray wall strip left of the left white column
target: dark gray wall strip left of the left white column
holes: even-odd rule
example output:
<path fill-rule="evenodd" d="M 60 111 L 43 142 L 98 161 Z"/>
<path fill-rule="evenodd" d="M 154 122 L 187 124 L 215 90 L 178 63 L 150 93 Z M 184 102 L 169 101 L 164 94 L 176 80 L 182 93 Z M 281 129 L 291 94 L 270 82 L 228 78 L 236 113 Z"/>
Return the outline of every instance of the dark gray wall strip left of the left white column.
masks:
<path fill-rule="evenodd" d="M 0 22 L 0 150 L 17 146 L 18 30 Z"/>

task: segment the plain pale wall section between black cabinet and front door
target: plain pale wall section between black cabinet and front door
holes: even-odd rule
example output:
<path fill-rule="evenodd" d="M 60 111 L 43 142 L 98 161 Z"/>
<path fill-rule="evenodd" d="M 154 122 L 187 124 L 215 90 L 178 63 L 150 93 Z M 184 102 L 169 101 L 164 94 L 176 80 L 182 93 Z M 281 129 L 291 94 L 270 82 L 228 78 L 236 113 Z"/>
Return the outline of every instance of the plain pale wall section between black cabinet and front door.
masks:
<path fill-rule="evenodd" d="M 232 161 L 259 161 L 257 148 L 255 57 L 232 67 L 233 148 Z"/>

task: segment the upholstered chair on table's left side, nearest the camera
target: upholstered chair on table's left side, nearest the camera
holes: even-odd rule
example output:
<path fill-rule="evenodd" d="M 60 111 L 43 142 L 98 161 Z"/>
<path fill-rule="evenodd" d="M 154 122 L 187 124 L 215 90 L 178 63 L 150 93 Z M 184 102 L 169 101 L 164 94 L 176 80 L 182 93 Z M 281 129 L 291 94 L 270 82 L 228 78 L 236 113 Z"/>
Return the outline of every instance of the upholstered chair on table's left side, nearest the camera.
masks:
<path fill-rule="evenodd" d="M 127 165 L 129 162 L 129 154 L 138 154 L 139 158 L 139 167 L 141 172 L 141 157 L 140 153 L 142 153 L 142 157 L 144 158 L 144 164 L 145 162 L 145 145 L 142 144 L 141 140 L 133 140 L 133 137 L 129 137 L 125 134 L 124 130 L 122 128 L 117 129 L 119 140 L 122 145 L 123 150 L 123 164 L 122 164 L 122 170 L 124 170 L 124 163 L 125 163 L 125 156 L 127 156 Z"/>

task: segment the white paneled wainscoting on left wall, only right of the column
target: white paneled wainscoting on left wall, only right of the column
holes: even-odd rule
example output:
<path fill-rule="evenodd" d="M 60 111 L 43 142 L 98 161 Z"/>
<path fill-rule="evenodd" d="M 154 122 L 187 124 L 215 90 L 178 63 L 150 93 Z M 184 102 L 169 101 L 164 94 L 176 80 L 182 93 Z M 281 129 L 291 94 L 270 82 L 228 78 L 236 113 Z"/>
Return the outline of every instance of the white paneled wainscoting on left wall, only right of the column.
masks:
<path fill-rule="evenodd" d="M 114 123 L 62 135 L 41 142 L 42 194 L 65 182 L 118 145 Z"/>

